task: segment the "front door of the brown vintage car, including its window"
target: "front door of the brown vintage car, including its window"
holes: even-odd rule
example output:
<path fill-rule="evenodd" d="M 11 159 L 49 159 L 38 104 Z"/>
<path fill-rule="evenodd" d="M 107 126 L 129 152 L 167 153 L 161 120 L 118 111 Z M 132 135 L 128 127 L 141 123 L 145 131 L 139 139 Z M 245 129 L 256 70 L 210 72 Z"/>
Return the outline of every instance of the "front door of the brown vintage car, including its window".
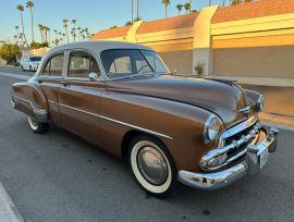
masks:
<path fill-rule="evenodd" d="M 69 53 L 68 75 L 61 82 L 59 107 L 62 126 L 99 144 L 100 96 L 105 82 L 93 82 L 88 74 L 100 70 L 96 60 L 84 51 Z"/>

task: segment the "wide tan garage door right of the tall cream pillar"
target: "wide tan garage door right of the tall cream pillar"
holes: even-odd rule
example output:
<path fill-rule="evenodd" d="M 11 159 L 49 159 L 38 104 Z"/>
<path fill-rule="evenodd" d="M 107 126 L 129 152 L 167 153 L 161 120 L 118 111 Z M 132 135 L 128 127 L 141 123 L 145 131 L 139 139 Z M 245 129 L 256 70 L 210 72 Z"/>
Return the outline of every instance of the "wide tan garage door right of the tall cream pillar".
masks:
<path fill-rule="evenodd" d="M 248 47 L 213 50 L 215 75 L 294 77 L 294 47 Z"/>

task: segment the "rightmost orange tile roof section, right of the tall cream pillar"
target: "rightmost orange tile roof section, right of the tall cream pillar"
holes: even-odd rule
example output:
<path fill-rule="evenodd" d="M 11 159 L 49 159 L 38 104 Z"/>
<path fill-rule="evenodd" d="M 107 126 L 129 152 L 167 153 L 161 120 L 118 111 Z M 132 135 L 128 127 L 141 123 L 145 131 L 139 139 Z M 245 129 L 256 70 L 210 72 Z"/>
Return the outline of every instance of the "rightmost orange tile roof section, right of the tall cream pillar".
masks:
<path fill-rule="evenodd" d="M 259 0 L 219 8 L 212 23 L 246 20 L 294 12 L 294 0 Z"/>

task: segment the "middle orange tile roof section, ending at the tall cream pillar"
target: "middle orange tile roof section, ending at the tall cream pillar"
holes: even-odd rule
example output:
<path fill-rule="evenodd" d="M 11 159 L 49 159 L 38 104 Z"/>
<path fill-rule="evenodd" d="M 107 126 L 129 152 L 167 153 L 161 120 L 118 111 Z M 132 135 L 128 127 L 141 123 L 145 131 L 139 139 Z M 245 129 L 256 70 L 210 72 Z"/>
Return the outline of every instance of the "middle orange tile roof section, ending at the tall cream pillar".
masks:
<path fill-rule="evenodd" d="M 194 25 L 194 21 L 197 16 L 198 13 L 193 13 L 191 15 L 181 15 L 176 17 L 168 17 L 163 20 L 144 22 L 138 28 L 137 34 L 191 27 Z"/>

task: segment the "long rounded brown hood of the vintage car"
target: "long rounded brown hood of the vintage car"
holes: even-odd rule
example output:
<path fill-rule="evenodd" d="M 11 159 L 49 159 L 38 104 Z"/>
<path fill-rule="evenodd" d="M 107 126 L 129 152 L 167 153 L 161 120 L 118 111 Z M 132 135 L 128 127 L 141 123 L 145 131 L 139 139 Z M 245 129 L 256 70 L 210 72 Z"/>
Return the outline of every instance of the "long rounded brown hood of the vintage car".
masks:
<path fill-rule="evenodd" d="M 243 90 L 213 79 L 159 75 L 108 82 L 108 89 L 164 98 L 200 107 L 217 114 L 225 127 L 247 119 L 240 112 L 246 107 Z"/>

